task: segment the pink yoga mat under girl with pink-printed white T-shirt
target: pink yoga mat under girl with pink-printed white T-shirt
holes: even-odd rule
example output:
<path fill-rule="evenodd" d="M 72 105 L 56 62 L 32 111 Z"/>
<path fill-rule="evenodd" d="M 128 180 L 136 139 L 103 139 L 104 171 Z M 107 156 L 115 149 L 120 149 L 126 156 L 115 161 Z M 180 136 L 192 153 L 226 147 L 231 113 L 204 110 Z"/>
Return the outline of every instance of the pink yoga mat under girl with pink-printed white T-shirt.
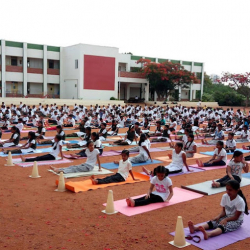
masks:
<path fill-rule="evenodd" d="M 146 213 L 146 212 L 153 211 L 156 209 L 172 206 L 181 202 L 190 201 L 190 200 L 203 197 L 203 195 L 201 194 L 196 194 L 194 192 L 183 190 L 178 187 L 173 188 L 173 191 L 174 191 L 174 195 L 169 202 L 158 202 L 158 203 L 153 203 L 153 204 L 140 206 L 140 207 L 128 207 L 126 203 L 126 199 L 123 199 L 123 200 L 115 201 L 114 207 L 115 207 L 115 210 L 117 210 L 118 212 L 124 215 L 133 216 L 133 215 Z M 144 195 L 146 194 L 132 197 L 132 199 L 136 199 Z M 106 204 L 103 204 L 103 205 L 106 206 Z"/>

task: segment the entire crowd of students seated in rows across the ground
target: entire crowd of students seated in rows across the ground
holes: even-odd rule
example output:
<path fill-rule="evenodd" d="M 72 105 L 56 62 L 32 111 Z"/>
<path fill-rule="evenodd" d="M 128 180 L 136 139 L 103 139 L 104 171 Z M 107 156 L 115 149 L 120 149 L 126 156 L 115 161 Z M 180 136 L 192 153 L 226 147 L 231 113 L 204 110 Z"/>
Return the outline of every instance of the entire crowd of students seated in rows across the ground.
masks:
<path fill-rule="evenodd" d="M 4 112 L 3 112 L 4 111 Z M 4 113 L 4 115 L 3 115 Z M 20 113 L 20 114 L 19 114 Z M 28 115 L 27 115 L 28 113 Z M 125 113 L 127 119 L 121 115 Z M 1 115 L 2 114 L 2 115 Z M 12 116 L 11 116 L 12 114 Z M 38 116 L 40 114 L 40 116 Z M 45 122 L 41 115 L 51 115 L 48 122 Z M 16 116 L 19 118 L 16 119 Z M 27 118 L 28 117 L 28 118 Z M 94 117 L 94 118 L 93 118 Z M 143 117 L 142 122 L 139 118 Z M 237 126 L 233 126 L 232 119 L 237 119 Z M 249 117 L 248 117 L 249 118 Z M 55 168 L 50 166 L 55 172 L 76 173 L 90 172 L 94 169 L 96 163 L 99 171 L 101 163 L 99 156 L 103 152 L 102 141 L 107 140 L 108 136 L 118 135 L 119 128 L 128 126 L 128 131 L 121 140 L 114 141 L 115 145 L 131 145 L 133 141 L 138 142 L 135 148 L 128 148 L 121 153 L 121 160 L 115 162 L 118 164 L 117 173 L 105 178 L 95 178 L 91 176 L 93 185 L 101 185 L 115 182 L 125 182 L 129 175 L 136 181 L 132 171 L 132 164 L 152 161 L 150 154 L 151 142 L 169 142 L 173 147 L 172 154 L 169 157 L 172 162 L 167 166 L 158 166 L 153 171 L 143 167 L 143 171 L 151 176 L 150 187 L 146 196 L 138 199 L 128 197 L 126 203 L 130 207 L 143 206 L 156 202 L 169 202 L 173 197 L 172 181 L 168 177 L 169 174 L 180 173 L 185 166 L 187 171 L 192 171 L 187 165 L 187 158 L 191 158 L 197 152 L 197 145 L 194 140 L 194 133 L 197 135 L 205 133 L 205 137 L 212 137 L 211 141 L 204 140 L 204 144 L 216 144 L 213 157 L 202 163 L 197 160 L 199 167 L 210 166 L 227 166 L 226 175 L 212 182 L 213 188 L 226 187 L 226 194 L 221 200 L 222 211 L 213 220 L 202 226 L 194 226 L 192 221 L 189 221 L 188 226 L 190 233 L 202 231 L 204 238 L 219 235 L 221 233 L 230 232 L 238 229 L 243 223 L 244 213 L 248 214 L 247 203 L 242 191 L 240 190 L 240 182 L 242 179 L 242 171 L 248 172 L 248 163 L 244 160 L 243 153 L 236 150 L 236 141 L 249 141 L 248 119 L 246 114 L 241 111 L 236 113 L 233 110 L 212 110 L 209 108 L 199 107 L 185 108 L 181 106 L 170 107 L 147 107 L 144 109 L 139 105 L 133 106 L 107 106 L 93 107 L 88 110 L 84 106 L 75 105 L 73 110 L 64 105 L 59 109 L 56 104 L 46 108 L 39 105 L 36 109 L 20 104 L 17 108 L 11 105 L 11 108 L 5 108 L 2 105 L 0 119 L 3 120 L 2 130 L 11 132 L 10 139 L 0 143 L 3 147 L 3 152 L 11 152 L 13 154 L 26 154 L 35 152 L 37 143 L 41 145 L 51 144 L 51 152 L 42 156 L 33 158 L 25 158 L 21 156 L 24 162 L 55 160 L 58 155 L 63 159 L 62 146 L 66 137 L 79 137 L 81 142 L 77 144 L 67 144 L 71 148 L 83 149 L 76 154 L 72 154 L 73 158 L 87 157 L 86 162 L 66 168 Z M 12 120 L 11 120 L 12 119 Z M 13 125 L 10 128 L 10 122 Z M 200 128 L 200 125 L 207 120 L 208 125 Z M 224 121 L 224 125 L 220 121 Z M 75 122 L 79 122 L 76 126 Z M 150 122 L 156 122 L 154 133 L 150 133 Z M 57 126 L 51 127 L 49 123 Z M 26 125 L 24 125 L 26 124 Z M 110 124 L 108 127 L 107 124 Z M 181 125 L 181 129 L 177 131 L 177 124 Z M 30 131 L 27 137 L 21 138 L 23 126 L 35 126 L 36 132 Z M 76 126 L 76 127 L 75 127 Z M 66 135 L 63 127 L 72 127 L 79 129 L 79 132 Z M 99 132 L 91 132 L 92 128 L 99 127 Z M 163 128 L 162 128 L 163 127 Z M 57 134 L 53 140 L 47 140 L 45 137 L 46 130 L 56 130 Z M 224 131 L 229 131 L 226 147 L 224 148 L 225 139 Z M 234 134 L 240 135 L 236 141 Z M 171 135 L 175 139 L 180 139 L 181 142 L 173 143 Z M 150 141 L 150 137 L 153 137 Z M 27 140 L 22 146 L 19 145 L 20 140 Z M 15 147 L 15 149 L 12 149 Z M 130 157 L 130 152 L 138 151 L 139 154 Z M 227 152 L 233 152 L 232 159 L 227 162 Z M 155 191 L 154 191 L 155 189 Z M 214 229 L 207 231 L 208 229 Z"/>

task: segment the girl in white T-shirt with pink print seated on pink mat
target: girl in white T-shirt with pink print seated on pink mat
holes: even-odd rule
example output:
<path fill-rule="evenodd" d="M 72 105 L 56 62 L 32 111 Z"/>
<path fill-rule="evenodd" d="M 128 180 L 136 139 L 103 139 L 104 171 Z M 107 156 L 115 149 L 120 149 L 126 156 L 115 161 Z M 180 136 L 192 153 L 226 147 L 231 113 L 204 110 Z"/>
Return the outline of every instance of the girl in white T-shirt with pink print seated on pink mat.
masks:
<path fill-rule="evenodd" d="M 155 169 L 156 175 L 150 181 L 150 188 L 146 196 L 132 199 L 127 198 L 126 202 L 129 207 L 145 206 L 151 203 L 169 202 L 173 197 L 172 181 L 168 177 L 168 169 L 164 166 L 158 166 Z M 153 191 L 155 187 L 155 191 Z"/>

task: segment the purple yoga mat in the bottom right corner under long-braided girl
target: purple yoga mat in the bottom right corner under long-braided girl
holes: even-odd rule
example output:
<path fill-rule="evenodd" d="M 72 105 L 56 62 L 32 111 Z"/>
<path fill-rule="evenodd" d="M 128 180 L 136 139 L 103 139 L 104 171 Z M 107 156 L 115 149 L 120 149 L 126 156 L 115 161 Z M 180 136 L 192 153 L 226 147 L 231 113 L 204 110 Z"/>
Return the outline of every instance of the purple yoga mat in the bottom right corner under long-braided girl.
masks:
<path fill-rule="evenodd" d="M 206 222 L 205 222 L 206 223 Z M 204 223 L 201 223 L 204 224 Z M 201 225 L 199 224 L 199 225 Z M 249 224 L 250 224 L 250 216 L 244 216 L 244 222 L 241 225 L 239 229 L 237 229 L 234 232 L 228 232 L 225 234 L 221 234 L 216 237 L 209 238 L 208 240 L 204 240 L 204 236 L 201 232 L 195 232 L 193 235 L 198 235 L 201 237 L 200 243 L 195 243 L 192 240 L 186 240 L 190 244 L 203 249 L 203 250 L 214 250 L 214 249 L 221 249 L 228 245 L 234 244 L 237 241 L 244 240 L 246 238 L 250 237 L 250 230 L 249 230 Z M 190 235 L 189 228 L 184 228 L 185 235 Z M 175 235 L 174 232 L 170 233 L 171 235 Z M 227 249 L 231 249 L 230 247 L 227 247 Z M 233 248 L 232 248 L 233 249 Z"/>

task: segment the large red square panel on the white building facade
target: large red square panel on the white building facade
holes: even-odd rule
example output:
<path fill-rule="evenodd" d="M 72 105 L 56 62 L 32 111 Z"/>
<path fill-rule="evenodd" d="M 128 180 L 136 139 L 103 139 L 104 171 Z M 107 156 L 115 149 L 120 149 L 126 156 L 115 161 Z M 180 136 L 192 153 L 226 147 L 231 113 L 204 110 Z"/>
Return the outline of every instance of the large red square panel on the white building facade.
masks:
<path fill-rule="evenodd" d="M 83 89 L 115 90 L 115 58 L 84 55 Z"/>

